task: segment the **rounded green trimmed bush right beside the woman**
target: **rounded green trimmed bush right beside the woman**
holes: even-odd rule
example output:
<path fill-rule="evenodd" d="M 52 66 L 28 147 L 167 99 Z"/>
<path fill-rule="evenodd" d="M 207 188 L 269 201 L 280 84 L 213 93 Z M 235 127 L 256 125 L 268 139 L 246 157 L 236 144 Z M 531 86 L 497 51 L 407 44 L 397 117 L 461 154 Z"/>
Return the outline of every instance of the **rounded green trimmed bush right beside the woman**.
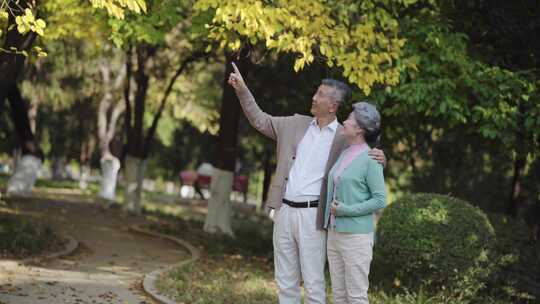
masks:
<path fill-rule="evenodd" d="M 495 234 L 486 214 L 445 195 L 409 194 L 379 222 L 373 279 L 383 288 L 475 295 L 493 268 Z"/>

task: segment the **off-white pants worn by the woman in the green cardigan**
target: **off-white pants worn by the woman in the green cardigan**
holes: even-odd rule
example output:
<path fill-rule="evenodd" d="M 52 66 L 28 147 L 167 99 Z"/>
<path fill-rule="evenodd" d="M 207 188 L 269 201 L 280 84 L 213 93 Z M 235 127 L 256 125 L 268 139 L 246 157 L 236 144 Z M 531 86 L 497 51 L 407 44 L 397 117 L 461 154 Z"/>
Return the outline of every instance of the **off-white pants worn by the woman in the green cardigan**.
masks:
<path fill-rule="evenodd" d="M 367 304 L 373 233 L 328 231 L 328 263 L 334 304 Z"/>

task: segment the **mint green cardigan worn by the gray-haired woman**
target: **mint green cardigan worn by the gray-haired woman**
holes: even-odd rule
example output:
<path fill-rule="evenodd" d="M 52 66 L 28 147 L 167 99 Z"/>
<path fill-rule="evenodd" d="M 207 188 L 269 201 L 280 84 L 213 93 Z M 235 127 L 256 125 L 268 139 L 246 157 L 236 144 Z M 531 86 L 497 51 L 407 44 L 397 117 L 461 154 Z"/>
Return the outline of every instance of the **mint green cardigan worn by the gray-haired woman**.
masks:
<path fill-rule="evenodd" d="M 328 194 L 324 227 L 328 229 L 330 207 L 334 196 L 334 173 L 343 159 L 340 155 L 328 174 Z M 336 187 L 339 202 L 334 229 L 338 232 L 366 234 L 374 231 L 373 213 L 386 207 L 383 167 L 368 155 L 360 153 L 341 173 Z"/>

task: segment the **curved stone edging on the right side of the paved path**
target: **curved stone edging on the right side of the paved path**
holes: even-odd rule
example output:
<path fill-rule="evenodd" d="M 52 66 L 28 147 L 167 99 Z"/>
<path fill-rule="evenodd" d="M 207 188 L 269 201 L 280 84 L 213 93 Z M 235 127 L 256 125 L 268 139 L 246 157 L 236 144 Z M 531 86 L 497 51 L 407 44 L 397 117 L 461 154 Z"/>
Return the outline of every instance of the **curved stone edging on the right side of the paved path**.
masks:
<path fill-rule="evenodd" d="M 170 271 L 171 269 L 173 268 L 177 268 L 177 267 L 181 267 L 183 265 L 186 265 L 186 264 L 189 264 L 189 263 L 192 263 L 192 262 L 195 262 L 196 260 L 199 259 L 200 257 L 200 253 L 199 253 L 199 250 L 197 248 L 195 248 L 193 245 L 191 245 L 190 243 L 182 240 L 182 239 L 179 239 L 179 238 L 176 238 L 174 236 L 170 236 L 170 235 L 166 235 L 166 234 L 162 234 L 162 233 L 158 233 L 158 232 L 154 232 L 154 231 L 150 231 L 148 229 L 145 229 L 145 228 L 142 228 L 138 225 L 131 225 L 129 227 L 129 229 L 133 232 L 137 232 L 137 233 L 141 233 L 141 234 L 145 234 L 145 235 L 148 235 L 148 236 L 154 236 L 154 237 L 159 237 L 159 238 L 163 238 L 163 239 L 166 239 L 166 240 L 169 240 L 181 247 L 184 247 L 186 248 L 191 257 L 187 260 L 183 260 L 181 262 L 178 262 L 176 264 L 173 264 L 173 265 L 170 265 L 168 267 L 165 267 L 163 269 L 157 269 L 157 270 L 154 270 L 150 273 L 147 273 L 145 276 L 144 276 L 144 279 L 143 279 L 143 289 L 144 289 L 144 292 L 146 294 L 148 294 L 150 297 L 152 297 L 154 300 L 158 301 L 159 303 L 163 303 L 163 304 L 177 304 L 177 302 L 163 294 L 160 294 L 156 288 L 156 281 L 157 279 L 165 272 L 168 272 Z"/>

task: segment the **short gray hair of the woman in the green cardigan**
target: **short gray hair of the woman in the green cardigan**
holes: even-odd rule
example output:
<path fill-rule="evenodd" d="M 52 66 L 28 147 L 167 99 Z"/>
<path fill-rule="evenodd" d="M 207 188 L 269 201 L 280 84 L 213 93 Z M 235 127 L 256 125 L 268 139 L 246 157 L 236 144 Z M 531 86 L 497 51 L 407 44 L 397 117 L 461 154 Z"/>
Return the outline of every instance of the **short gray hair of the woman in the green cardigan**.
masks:
<path fill-rule="evenodd" d="M 377 144 L 381 133 L 381 115 L 377 108 L 367 102 L 353 104 L 354 119 L 358 126 L 365 131 L 365 140 L 369 144 Z"/>

